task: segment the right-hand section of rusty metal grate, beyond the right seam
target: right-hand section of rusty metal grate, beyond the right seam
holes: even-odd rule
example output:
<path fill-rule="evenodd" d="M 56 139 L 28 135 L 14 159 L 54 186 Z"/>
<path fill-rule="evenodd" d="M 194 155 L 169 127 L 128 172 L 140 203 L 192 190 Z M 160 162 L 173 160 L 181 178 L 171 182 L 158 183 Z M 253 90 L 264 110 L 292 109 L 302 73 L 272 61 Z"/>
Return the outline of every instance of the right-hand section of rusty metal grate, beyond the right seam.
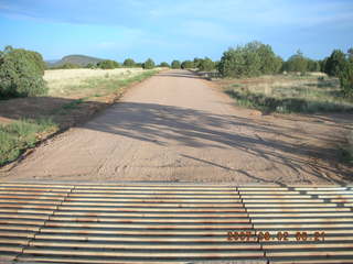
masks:
<path fill-rule="evenodd" d="M 237 190 L 270 263 L 353 263 L 352 187 Z"/>

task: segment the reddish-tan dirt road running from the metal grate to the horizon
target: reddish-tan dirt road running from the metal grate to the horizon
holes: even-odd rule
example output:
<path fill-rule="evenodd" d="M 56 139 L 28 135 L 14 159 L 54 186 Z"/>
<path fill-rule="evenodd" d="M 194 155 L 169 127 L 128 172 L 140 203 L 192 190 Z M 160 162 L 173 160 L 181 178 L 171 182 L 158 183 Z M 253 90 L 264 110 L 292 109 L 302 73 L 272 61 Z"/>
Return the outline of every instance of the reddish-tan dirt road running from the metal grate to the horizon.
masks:
<path fill-rule="evenodd" d="M 274 117 L 236 108 L 206 80 L 168 72 L 131 88 L 90 122 L 38 147 L 2 180 L 342 184 L 338 117 Z M 333 136 L 334 135 L 334 136 Z"/>

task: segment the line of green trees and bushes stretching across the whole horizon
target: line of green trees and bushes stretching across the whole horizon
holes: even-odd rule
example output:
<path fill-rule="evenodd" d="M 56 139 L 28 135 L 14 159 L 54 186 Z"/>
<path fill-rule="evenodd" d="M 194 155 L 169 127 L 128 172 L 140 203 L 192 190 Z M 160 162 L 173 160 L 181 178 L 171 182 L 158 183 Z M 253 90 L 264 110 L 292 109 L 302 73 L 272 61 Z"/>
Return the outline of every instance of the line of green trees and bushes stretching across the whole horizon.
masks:
<path fill-rule="evenodd" d="M 81 66 L 67 63 L 60 66 L 60 68 L 78 67 Z M 310 59 L 298 51 L 287 61 L 284 61 L 275 54 L 270 45 L 255 41 L 228 48 L 217 62 L 208 57 L 195 57 L 192 61 L 174 59 L 171 64 L 162 62 L 157 65 L 152 58 L 148 58 L 145 63 L 126 58 L 122 64 L 106 59 L 97 64 L 86 65 L 86 68 L 101 69 L 119 67 L 197 69 L 200 72 L 217 72 L 224 78 L 256 77 L 286 72 L 299 74 L 322 72 L 340 78 L 344 95 L 353 97 L 353 48 L 350 48 L 346 53 L 334 50 L 330 56 L 321 61 Z M 0 51 L 0 98 L 44 95 L 47 91 L 43 80 L 45 69 L 46 64 L 41 54 L 7 46 L 3 51 Z"/>

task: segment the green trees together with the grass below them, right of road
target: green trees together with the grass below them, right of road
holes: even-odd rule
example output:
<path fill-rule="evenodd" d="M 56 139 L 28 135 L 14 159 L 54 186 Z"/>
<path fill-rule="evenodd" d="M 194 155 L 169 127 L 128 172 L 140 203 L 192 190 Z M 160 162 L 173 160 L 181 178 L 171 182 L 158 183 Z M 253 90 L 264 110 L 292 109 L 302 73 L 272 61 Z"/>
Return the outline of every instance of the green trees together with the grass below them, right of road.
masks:
<path fill-rule="evenodd" d="M 285 113 L 353 111 L 352 51 L 333 51 L 323 61 L 298 51 L 284 62 L 269 45 L 252 42 L 226 51 L 217 69 L 239 106 Z"/>

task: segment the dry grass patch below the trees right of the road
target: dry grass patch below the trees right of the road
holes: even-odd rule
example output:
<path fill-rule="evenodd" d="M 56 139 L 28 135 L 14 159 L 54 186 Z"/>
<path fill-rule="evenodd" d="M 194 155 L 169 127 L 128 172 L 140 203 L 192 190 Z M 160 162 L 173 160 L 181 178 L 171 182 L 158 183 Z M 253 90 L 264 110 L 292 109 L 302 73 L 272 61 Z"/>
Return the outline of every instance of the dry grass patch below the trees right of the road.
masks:
<path fill-rule="evenodd" d="M 257 78 L 221 80 L 225 92 L 237 105 L 263 112 L 345 112 L 353 101 L 341 94 L 338 78 L 323 74 L 307 76 L 277 75 Z"/>

